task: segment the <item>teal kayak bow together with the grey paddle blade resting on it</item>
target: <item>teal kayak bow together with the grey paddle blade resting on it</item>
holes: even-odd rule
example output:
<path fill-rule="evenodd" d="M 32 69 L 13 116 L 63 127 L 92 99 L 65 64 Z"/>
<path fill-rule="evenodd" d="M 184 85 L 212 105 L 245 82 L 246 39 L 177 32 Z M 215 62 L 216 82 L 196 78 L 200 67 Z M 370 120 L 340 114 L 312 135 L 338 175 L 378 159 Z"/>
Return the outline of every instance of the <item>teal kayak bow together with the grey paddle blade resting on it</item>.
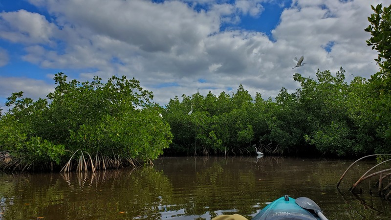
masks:
<path fill-rule="evenodd" d="M 296 201 L 297 200 L 297 201 Z M 274 200 L 252 220 L 327 220 L 319 206 L 309 198 L 290 198 L 288 195 Z"/>

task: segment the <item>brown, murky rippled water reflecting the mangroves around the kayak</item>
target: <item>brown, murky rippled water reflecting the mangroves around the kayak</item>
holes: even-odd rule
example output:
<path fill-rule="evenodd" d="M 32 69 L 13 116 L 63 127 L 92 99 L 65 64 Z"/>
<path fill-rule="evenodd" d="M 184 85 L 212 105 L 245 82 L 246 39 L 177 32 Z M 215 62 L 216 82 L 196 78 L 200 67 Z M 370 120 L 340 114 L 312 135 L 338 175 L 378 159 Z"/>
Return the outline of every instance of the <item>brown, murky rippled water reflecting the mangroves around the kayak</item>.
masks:
<path fill-rule="evenodd" d="M 376 179 L 348 188 L 373 162 L 284 157 L 167 157 L 153 167 L 94 174 L 0 174 L 2 220 L 248 219 L 288 194 L 314 200 L 329 220 L 391 219 L 391 203 L 369 192 Z"/>

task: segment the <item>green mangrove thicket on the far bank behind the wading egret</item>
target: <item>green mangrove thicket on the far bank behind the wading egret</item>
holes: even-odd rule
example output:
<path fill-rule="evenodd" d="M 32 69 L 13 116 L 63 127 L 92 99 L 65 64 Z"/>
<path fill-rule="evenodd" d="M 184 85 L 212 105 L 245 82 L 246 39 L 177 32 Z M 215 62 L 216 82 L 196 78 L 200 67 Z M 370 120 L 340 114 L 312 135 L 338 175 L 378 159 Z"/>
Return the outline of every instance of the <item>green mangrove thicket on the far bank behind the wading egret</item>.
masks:
<path fill-rule="evenodd" d="M 368 81 L 355 77 L 348 84 L 345 75 L 342 67 L 335 74 L 318 69 L 316 79 L 296 73 L 301 88 L 294 93 L 282 88 L 275 101 L 259 93 L 253 100 L 242 85 L 232 96 L 197 92 L 182 95 L 182 102 L 175 97 L 166 106 L 174 135 L 169 152 L 254 153 L 254 143 L 263 151 L 287 154 L 356 156 L 384 150 Z M 187 115 L 191 105 L 193 113 Z"/>

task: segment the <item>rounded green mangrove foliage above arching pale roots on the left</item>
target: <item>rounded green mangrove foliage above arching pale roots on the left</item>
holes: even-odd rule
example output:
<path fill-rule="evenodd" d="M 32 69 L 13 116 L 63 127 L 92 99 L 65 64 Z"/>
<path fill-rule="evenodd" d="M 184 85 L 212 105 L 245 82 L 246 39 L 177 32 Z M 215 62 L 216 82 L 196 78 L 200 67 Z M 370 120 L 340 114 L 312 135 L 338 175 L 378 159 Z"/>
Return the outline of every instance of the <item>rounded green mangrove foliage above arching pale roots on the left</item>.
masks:
<path fill-rule="evenodd" d="M 0 151 L 21 165 L 64 164 L 75 152 L 149 161 L 172 142 L 170 126 L 158 116 L 162 108 L 136 79 L 67 82 L 58 73 L 54 80 L 58 86 L 47 95 L 50 104 L 22 98 L 22 92 L 6 103 L 10 110 L 0 120 Z"/>

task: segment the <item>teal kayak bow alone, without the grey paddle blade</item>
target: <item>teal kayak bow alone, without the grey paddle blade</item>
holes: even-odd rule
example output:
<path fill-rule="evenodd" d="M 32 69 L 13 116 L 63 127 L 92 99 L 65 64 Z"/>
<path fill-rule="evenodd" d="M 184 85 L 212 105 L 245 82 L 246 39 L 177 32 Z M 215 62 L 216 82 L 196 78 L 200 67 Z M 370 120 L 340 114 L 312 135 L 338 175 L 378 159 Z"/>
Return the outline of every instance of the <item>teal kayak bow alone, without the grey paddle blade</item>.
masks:
<path fill-rule="evenodd" d="M 312 200 L 311 200 L 312 201 Z M 304 206 L 305 207 L 305 206 Z M 264 207 L 252 220 L 320 220 L 315 212 L 300 207 L 296 199 L 288 195 L 274 200 Z"/>

